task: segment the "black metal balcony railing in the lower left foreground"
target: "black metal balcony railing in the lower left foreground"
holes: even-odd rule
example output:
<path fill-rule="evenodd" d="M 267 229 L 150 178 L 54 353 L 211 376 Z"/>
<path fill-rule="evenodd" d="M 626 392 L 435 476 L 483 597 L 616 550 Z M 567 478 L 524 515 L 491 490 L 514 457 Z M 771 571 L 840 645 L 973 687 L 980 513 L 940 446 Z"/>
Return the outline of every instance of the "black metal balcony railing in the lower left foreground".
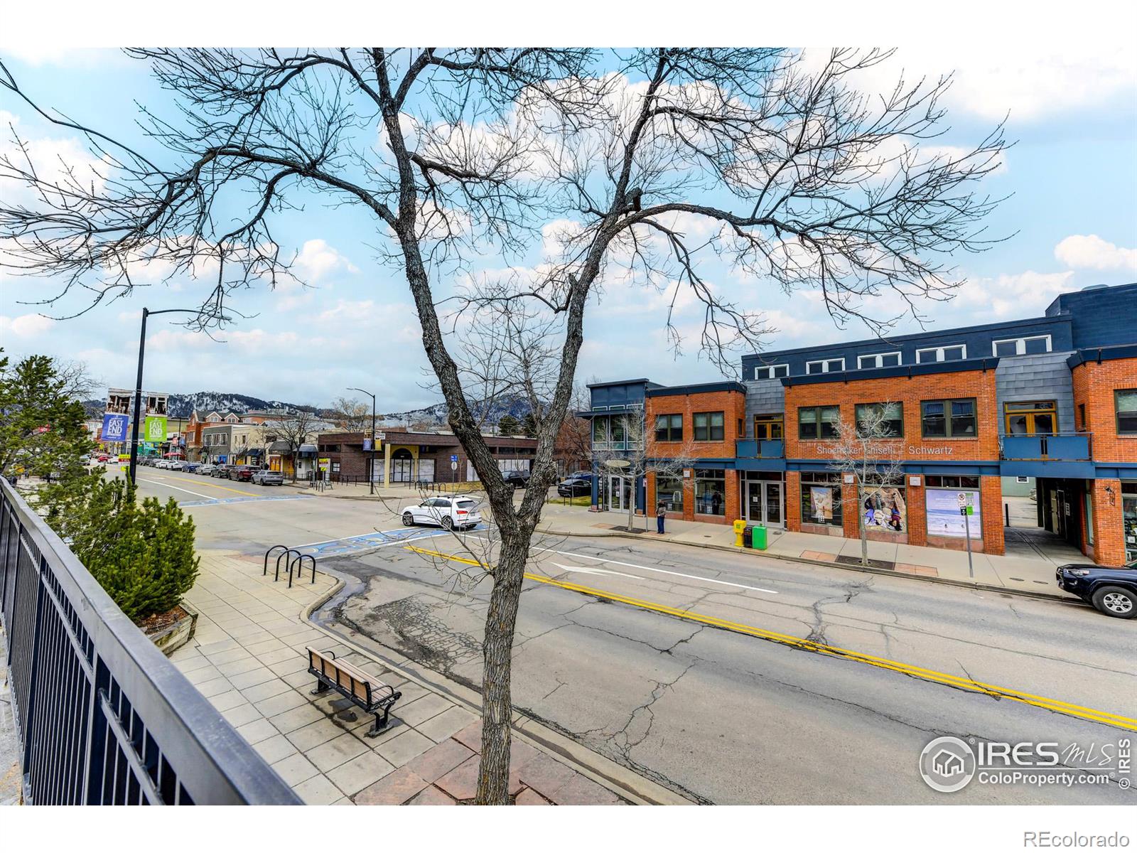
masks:
<path fill-rule="evenodd" d="M 0 618 L 26 802 L 299 803 L 3 481 Z"/>

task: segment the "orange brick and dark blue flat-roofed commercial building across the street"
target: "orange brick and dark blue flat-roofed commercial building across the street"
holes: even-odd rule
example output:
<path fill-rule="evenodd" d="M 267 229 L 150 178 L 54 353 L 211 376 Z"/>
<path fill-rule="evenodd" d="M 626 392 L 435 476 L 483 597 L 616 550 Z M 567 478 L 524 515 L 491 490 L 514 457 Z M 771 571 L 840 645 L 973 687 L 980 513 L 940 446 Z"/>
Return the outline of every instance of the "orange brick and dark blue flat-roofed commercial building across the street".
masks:
<path fill-rule="evenodd" d="M 863 519 L 872 539 L 963 548 L 963 495 L 972 547 L 1002 554 L 1004 482 L 1034 482 L 1040 527 L 1098 563 L 1137 558 L 1137 284 L 1063 293 L 1040 317 L 745 356 L 741 374 L 590 386 L 598 453 L 642 440 L 684 459 L 634 488 L 597 465 L 594 505 L 849 538 Z M 832 442 L 869 406 L 902 475 L 866 500 Z M 623 434 L 639 409 L 645 434 Z"/>

